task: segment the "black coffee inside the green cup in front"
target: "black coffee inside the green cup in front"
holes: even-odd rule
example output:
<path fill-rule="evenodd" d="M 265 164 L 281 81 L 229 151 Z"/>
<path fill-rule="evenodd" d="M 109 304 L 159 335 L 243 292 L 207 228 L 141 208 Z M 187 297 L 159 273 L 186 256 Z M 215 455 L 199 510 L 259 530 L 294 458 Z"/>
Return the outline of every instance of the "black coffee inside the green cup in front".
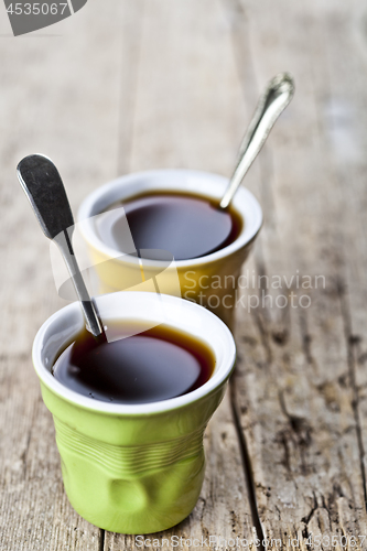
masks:
<path fill-rule="evenodd" d="M 109 324 L 109 338 L 123 326 Z M 199 339 L 160 325 L 138 335 L 96 344 L 86 329 L 57 358 L 54 377 L 69 389 L 115 403 L 148 403 L 191 392 L 215 367 Z"/>

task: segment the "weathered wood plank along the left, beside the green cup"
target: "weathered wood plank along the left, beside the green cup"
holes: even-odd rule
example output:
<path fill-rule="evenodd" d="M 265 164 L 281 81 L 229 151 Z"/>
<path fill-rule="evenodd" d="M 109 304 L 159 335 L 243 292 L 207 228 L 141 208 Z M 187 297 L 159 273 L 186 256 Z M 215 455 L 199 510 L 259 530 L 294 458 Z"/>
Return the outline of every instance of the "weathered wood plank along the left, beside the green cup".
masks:
<path fill-rule="evenodd" d="M 74 209 L 117 175 L 126 155 L 118 151 L 120 96 L 133 69 L 126 28 L 139 17 L 139 2 L 100 0 L 61 23 L 60 36 L 0 40 L 1 550 L 100 549 L 100 530 L 67 501 L 53 422 L 32 369 L 33 337 L 65 303 L 15 166 L 34 151 L 53 158 Z"/>

